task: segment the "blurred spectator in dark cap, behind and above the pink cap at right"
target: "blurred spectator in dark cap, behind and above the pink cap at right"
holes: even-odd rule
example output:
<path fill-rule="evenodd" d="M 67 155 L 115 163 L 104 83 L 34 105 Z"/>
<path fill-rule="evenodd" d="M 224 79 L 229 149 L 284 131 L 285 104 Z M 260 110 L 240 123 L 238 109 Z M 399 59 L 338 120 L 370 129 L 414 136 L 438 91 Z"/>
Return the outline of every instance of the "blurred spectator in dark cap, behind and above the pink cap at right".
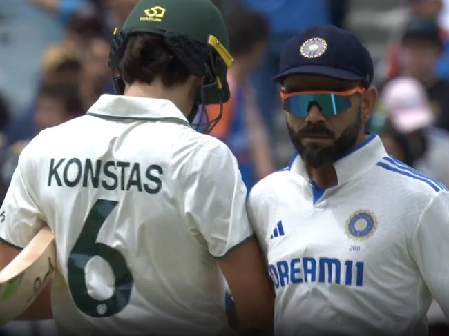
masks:
<path fill-rule="evenodd" d="M 401 42 L 403 74 L 416 78 L 426 88 L 437 116 L 435 125 L 449 130 L 449 81 L 439 79 L 435 72 L 443 50 L 436 21 L 410 20 Z"/>

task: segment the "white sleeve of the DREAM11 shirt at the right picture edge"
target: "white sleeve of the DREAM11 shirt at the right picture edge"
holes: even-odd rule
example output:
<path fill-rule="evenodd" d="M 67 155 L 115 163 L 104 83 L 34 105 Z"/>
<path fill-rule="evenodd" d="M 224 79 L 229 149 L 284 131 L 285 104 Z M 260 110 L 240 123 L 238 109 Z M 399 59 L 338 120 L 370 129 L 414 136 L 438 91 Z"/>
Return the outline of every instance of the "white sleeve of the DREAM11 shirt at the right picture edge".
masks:
<path fill-rule="evenodd" d="M 412 254 L 434 299 L 449 318 L 449 192 L 440 191 L 423 211 Z"/>

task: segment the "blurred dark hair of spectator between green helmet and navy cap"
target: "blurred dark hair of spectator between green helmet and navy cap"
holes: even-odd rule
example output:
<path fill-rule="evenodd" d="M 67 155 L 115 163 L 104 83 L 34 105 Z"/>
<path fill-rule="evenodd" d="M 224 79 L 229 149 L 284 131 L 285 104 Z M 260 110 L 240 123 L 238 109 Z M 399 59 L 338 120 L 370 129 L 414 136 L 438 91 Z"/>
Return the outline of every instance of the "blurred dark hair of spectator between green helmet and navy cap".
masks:
<path fill-rule="evenodd" d="M 239 10 L 227 15 L 229 51 L 232 55 L 249 52 L 253 46 L 268 37 L 268 21 L 262 14 Z"/>

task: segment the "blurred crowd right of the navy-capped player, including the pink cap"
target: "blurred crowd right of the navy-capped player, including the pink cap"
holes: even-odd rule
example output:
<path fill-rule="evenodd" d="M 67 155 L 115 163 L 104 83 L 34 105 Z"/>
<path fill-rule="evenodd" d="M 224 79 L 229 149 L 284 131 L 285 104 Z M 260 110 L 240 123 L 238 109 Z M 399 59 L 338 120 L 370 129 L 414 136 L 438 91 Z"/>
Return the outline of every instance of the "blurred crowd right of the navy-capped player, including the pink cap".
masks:
<path fill-rule="evenodd" d="M 381 99 L 370 126 L 390 154 L 448 185 L 449 27 L 441 15 L 449 1 L 408 5 L 378 64 Z"/>

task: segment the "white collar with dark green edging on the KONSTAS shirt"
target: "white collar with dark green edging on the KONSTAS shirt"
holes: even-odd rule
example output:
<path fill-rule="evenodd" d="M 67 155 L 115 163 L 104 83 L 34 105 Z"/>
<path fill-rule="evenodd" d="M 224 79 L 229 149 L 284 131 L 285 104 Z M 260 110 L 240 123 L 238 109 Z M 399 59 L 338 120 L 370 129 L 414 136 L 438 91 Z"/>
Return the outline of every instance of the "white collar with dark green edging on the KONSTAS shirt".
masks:
<path fill-rule="evenodd" d="M 113 119 L 173 120 L 190 126 L 185 115 L 169 100 L 102 95 L 89 108 L 87 115 Z"/>

